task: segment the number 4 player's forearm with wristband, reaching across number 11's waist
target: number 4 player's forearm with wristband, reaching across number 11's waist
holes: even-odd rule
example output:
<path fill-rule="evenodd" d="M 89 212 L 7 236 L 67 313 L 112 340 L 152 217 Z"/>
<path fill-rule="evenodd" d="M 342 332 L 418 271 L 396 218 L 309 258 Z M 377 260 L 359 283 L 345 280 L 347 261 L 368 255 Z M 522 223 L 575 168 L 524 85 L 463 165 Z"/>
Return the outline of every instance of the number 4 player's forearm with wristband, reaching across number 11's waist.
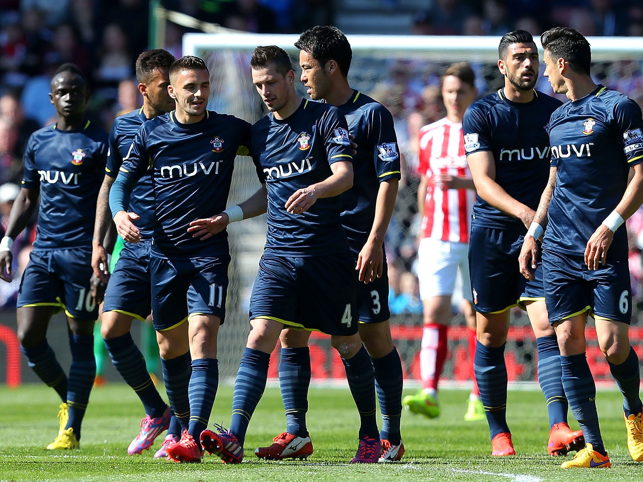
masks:
<path fill-rule="evenodd" d="M 188 233 L 192 233 L 193 238 L 201 238 L 201 241 L 204 241 L 221 233 L 231 222 L 260 216 L 266 213 L 267 209 L 268 192 L 266 184 L 262 183 L 257 192 L 237 206 L 232 206 L 214 217 L 190 222 Z"/>

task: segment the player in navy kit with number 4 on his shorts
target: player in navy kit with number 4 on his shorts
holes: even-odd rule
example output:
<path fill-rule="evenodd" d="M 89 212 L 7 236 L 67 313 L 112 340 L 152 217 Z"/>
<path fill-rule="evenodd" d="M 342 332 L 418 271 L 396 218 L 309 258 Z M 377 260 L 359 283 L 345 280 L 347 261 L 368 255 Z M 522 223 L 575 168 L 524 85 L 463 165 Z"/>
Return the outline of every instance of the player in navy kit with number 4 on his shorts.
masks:
<path fill-rule="evenodd" d="M 339 195 L 353 182 L 347 121 L 336 107 L 296 95 L 293 67 L 283 49 L 258 47 L 250 65 L 269 110 L 253 125 L 249 147 L 265 184 L 240 206 L 204 225 L 216 231 L 230 220 L 264 213 L 267 195 L 266 249 L 250 298 L 251 331 L 235 382 L 230 431 L 219 427 L 219 433 L 201 434 L 205 449 L 230 463 L 243 458 L 246 430 L 266 386 L 270 353 L 287 326 L 331 335 L 359 413 L 376 410 L 373 366 L 358 334 L 354 261 L 340 219 Z M 377 425 L 369 427 L 375 433 L 363 429 L 354 463 L 379 458 Z M 303 458 L 312 453 L 309 436 L 306 439 Z"/>

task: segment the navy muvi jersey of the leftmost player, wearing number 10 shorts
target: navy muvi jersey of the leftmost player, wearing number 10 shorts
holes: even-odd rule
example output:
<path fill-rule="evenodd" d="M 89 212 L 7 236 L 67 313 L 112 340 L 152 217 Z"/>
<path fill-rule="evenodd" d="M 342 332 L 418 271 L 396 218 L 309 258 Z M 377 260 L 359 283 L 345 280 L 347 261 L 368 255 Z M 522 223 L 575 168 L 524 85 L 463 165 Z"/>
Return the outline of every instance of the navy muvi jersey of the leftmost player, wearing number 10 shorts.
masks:
<path fill-rule="evenodd" d="M 96 199 L 107 163 L 107 132 L 87 121 L 84 129 L 43 127 L 24 151 L 23 187 L 40 190 L 39 249 L 89 247 Z"/>

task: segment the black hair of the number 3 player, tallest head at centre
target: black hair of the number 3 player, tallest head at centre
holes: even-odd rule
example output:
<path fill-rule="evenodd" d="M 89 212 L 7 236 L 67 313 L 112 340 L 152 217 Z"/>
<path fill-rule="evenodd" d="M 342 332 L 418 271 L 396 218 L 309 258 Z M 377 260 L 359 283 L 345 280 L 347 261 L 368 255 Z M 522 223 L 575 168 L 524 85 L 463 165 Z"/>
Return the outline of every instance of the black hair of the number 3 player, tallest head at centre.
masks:
<path fill-rule="evenodd" d="M 311 54 L 312 58 L 320 63 L 321 68 L 325 67 L 329 60 L 334 60 L 340 67 L 341 75 L 349 75 L 353 51 L 346 35 L 339 28 L 332 25 L 309 28 L 299 36 L 294 46 Z"/>

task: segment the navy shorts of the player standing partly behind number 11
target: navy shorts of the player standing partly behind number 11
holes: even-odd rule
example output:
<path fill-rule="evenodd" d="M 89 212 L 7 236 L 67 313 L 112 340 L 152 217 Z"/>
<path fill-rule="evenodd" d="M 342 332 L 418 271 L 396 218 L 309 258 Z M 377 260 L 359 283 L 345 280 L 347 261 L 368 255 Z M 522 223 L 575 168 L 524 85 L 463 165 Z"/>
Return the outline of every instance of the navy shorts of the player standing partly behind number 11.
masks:
<path fill-rule="evenodd" d="M 152 312 L 151 241 L 125 243 L 105 290 L 103 312 L 116 311 L 141 321 Z"/>

